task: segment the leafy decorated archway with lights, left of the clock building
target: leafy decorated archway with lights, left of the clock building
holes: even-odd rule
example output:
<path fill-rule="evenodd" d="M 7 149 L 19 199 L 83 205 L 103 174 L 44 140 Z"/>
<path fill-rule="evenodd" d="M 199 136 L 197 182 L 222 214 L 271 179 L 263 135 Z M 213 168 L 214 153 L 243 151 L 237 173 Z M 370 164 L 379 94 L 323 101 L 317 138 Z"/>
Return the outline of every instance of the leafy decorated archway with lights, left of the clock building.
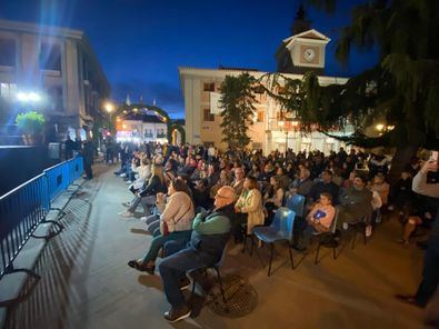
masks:
<path fill-rule="evenodd" d="M 172 131 L 178 130 L 181 134 L 181 142 L 186 142 L 186 131 L 184 128 L 180 124 L 172 123 L 171 118 L 168 116 L 168 112 L 163 109 L 156 107 L 156 106 L 147 106 L 144 103 L 132 103 L 132 104 L 122 104 L 118 107 L 118 109 L 112 114 L 112 123 L 116 127 L 116 118 L 120 114 L 128 114 L 129 112 L 137 113 L 142 110 L 148 110 L 159 114 L 159 117 L 163 118 L 163 121 L 167 123 L 167 139 L 169 143 L 172 143 Z"/>

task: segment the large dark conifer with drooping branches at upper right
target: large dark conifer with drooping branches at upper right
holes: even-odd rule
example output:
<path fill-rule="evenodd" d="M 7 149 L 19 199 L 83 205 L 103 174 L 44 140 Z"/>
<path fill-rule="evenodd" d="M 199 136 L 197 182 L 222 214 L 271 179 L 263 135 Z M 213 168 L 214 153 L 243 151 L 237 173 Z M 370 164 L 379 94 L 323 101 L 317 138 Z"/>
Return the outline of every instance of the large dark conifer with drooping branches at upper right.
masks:
<path fill-rule="evenodd" d="M 336 0 L 309 0 L 335 10 Z M 376 67 L 345 86 L 321 87 L 313 73 L 303 80 L 305 99 L 298 110 L 306 127 L 353 124 L 343 140 L 361 147 L 396 147 L 393 177 L 419 147 L 439 146 L 439 1 L 373 0 L 353 8 L 350 26 L 342 29 L 336 56 L 346 63 L 350 50 L 379 50 Z M 282 103 L 288 109 L 288 102 Z M 370 138 L 366 128 L 383 118 L 395 127 Z"/>

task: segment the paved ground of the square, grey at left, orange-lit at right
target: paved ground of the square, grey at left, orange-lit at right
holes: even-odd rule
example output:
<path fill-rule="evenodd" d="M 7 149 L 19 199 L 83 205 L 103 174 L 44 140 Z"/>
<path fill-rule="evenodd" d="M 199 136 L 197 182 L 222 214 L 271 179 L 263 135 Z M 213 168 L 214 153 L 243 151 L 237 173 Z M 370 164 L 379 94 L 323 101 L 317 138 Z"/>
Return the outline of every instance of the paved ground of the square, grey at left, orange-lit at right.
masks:
<path fill-rule="evenodd" d="M 40 282 L 9 312 L 6 328 L 422 328 L 423 311 L 393 300 L 415 291 L 421 252 L 395 240 L 400 226 L 382 223 L 367 246 L 346 247 L 335 261 L 331 250 L 302 259 L 293 252 L 291 270 L 286 250 L 275 258 L 267 277 L 257 257 L 229 252 L 223 273 L 245 277 L 259 296 L 243 318 L 219 317 L 204 307 L 187 321 L 169 325 L 160 277 L 139 273 L 127 261 L 140 257 L 151 237 L 138 219 L 121 219 L 127 185 L 114 167 L 97 164 L 83 195 L 67 206 L 63 232 L 50 240 L 36 263 Z M 260 256 L 268 259 L 268 248 Z M 267 261 L 266 261 L 267 262 Z"/>

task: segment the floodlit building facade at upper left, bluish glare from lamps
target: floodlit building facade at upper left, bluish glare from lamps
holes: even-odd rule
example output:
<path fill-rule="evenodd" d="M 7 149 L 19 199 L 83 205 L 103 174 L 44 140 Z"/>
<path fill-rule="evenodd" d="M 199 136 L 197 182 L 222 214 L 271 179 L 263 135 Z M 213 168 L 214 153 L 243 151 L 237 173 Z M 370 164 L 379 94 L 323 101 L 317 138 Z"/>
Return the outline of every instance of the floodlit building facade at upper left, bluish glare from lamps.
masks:
<path fill-rule="evenodd" d="M 3 117 L 41 111 L 58 138 L 68 132 L 84 138 L 96 118 L 104 118 L 101 102 L 110 96 L 82 31 L 6 20 L 0 20 L 0 83 L 8 104 Z"/>

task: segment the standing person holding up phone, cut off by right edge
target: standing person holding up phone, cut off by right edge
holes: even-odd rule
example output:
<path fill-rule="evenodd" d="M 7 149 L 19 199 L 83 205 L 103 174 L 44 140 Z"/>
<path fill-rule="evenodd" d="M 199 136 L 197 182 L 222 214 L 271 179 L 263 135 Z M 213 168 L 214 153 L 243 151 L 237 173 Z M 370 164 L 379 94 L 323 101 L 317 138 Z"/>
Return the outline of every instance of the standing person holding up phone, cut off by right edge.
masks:
<path fill-rule="evenodd" d="M 438 172 L 438 152 L 427 161 L 415 176 L 412 189 L 415 192 L 437 199 L 439 207 L 439 183 L 432 183 L 428 177 Z M 435 176 L 435 175 L 433 175 Z M 431 229 L 428 248 L 423 257 L 422 281 L 415 295 L 397 295 L 396 298 L 402 302 L 425 308 L 436 292 L 439 282 L 439 212 Z M 439 325 L 439 318 L 430 319 L 429 323 Z"/>

